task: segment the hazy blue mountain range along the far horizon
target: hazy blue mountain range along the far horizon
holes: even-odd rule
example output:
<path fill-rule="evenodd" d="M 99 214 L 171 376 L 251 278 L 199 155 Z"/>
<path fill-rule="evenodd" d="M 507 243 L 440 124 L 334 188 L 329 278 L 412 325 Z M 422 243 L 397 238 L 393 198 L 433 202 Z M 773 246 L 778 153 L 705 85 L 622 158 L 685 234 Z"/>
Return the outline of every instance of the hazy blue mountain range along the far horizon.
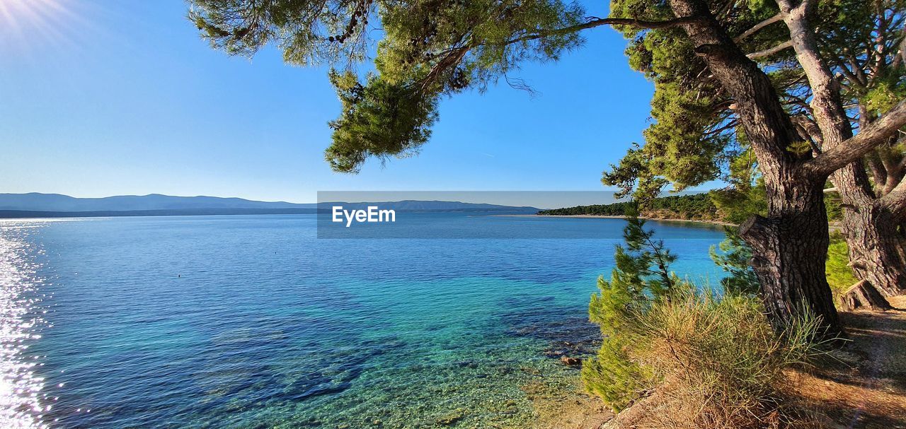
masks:
<path fill-rule="evenodd" d="M 330 212 L 333 205 L 346 210 L 378 205 L 401 212 L 506 212 L 535 213 L 535 207 L 404 200 L 375 203 L 297 204 L 218 196 L 118 195 L 76 198 L 60 194 L 0 194 L 0 218 L 140 215 L 287 215 Z"/>

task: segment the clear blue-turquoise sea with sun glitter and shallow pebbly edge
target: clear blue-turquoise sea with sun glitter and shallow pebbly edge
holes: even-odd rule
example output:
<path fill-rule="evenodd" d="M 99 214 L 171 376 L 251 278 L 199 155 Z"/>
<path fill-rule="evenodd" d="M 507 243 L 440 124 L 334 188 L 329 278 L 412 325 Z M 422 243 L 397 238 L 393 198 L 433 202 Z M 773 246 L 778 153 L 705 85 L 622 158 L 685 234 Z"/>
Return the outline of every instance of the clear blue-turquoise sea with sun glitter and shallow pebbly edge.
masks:
<path fill-rule="evenodd" d="M 0 220 L 0 426 L 532 427 L 525 386 L 572 386 L 557 357 L 594 347 L 588 299 L 624 223 L 469 217 L 457 227 L 612 238 L 324 240 L 313 215 Z M 650 225 L 680 275 L 721 276 L 720 228 Z"/>

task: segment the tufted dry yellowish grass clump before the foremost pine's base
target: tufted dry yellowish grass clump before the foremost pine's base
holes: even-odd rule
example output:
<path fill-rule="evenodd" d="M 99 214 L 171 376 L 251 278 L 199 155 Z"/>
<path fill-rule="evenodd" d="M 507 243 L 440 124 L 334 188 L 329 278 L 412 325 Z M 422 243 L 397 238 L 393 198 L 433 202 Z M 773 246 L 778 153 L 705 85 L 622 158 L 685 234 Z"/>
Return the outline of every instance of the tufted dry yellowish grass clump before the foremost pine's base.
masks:
<path fill-rule="evenodd" d="M 661 412 L 644 427 L 671 429 L 818 427 L 812 415 L 789 406 L 785 370 L 823 352 L 813 340 L 816 319 L 777 336 L 757 300 L 686 293 L 638 315 L 641 365 L 662 382 Z"/>

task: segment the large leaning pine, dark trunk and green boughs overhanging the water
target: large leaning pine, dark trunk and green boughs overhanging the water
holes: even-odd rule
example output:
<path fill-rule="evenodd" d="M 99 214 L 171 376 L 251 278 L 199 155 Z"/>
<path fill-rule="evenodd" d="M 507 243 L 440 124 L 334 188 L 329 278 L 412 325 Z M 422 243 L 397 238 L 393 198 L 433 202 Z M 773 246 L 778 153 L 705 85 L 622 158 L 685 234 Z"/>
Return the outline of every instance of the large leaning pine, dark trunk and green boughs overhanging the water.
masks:
<path fill-rule="evenodd" d="M 836 29 L 832 35 L 843 43 L 834 39 L 832 45 L 852 44 L 847 39 L 851 35 L 866 43 L 859 38 L 863 24 L 876 20 L 871 14 L 861 19 L 866 15 L 860 13 L 873 10 L 864 7 L 863 0 L 614 0 L 611 16 L 605 18 L 588 16 L 583 5 L 560 0 L 191 0 L 190 4 L 189 18 L 202 36 L 231 54 L 254 55 L 273 42 L 287 62 L 306 66 L 326 62 L 351 71 L 377 47 L 371 75 L 334 80 L 343 106 L 340 118 L 332 123 L 333 144 L 325 156 L 342 172 L 358 171 L 369 157 L 417 152 L 428 139 L 442 97 L 467 89 L 485 91 L 525 62 L 555 61 L 580 47 L 583 31 L 616 25 L 633 41 L 633 67 L 655 82 L 652 117 L 657 126 L 646 132 L 645 147 L 630 154 L 631 165 L 623 171 L 650 177 L 641 185 L 648 191 L 668 179 L 683 186 L 713 177 L 718 173 L 715 157 L 722 157 L 728 139 L 738 140 L 723 131 L 741 129 L 757 157 L 767 206 L 766 216 L 742 225 L 741 236 L 753 249 L 770 319 L 782 329 L 805 302 L 822 317 L 829 333 L 840 330 L 824 277 L 829 242 L 824 183 L 835 171 L 858 165 L 873 149 L 889 144 L 906 125 L 906 102 L 894 89 L 872 95 L 878 109 L 853 136 L 843 102 L 851 96 L 839 91 L 839 82 L 822 59 L 827 52 L 816 42 L 827 35 L 816 34 L 816 24 L 826 23 L 821 28 Z M 901 11 L 900 3 L 893 5 Z M 857 16 L 860 19 L 854 20 Z M 369 22 L 375 25 L 370 27 Z M 855 31 L 851 24 L 863 26 Z M 886 40 L 887 52 L 900 52 L 899 46 L 886 48 L 895 40 L 899 39 Z M 773 62 L 753 61 L 777 55 L 795 60 L 801 69 L 790 72 Z M 810 102 L 793 110 L 787 100 L 796 94 L 786 89 L 796 85 L 808 89 Z M 811 123 L 799 120 L 803 110 L 811 112 Z M 805 140 L 814 143 L 811 153 L 787 150 Z M 658 170 L 651 172 L 651 165 Z M 906 181 L 880 203 L 877 207 L 887 217 L 878 219 L 899 224 L 906 216 Z M 866 220 L 877 224 L 872 222 Z M 878 224 L 872 231 L 889 224 Z M 888 230 L 883 231 L 891 233 Z M 875 235 L 896 235 L 886 233 Z"/>

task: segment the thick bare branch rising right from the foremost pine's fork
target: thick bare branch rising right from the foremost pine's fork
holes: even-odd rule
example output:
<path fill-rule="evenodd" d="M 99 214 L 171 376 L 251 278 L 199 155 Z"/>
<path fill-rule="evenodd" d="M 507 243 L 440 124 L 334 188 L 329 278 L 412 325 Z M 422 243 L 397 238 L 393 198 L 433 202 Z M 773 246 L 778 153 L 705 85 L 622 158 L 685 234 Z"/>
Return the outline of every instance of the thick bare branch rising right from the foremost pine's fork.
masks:
<path fill-rule="evenodd" d="M 882 144 L 893 133 L 906 126 L 906 100 L 900 101 L 893 109 L 885 113 L 871 125 L 861 129 L 859 134 L 847 138 L 842 145 L 827 149 L 821 155 L 807 161 L 804 167 L 815 173 L 829 175 L 860 157 L 872 148 Z"/>

